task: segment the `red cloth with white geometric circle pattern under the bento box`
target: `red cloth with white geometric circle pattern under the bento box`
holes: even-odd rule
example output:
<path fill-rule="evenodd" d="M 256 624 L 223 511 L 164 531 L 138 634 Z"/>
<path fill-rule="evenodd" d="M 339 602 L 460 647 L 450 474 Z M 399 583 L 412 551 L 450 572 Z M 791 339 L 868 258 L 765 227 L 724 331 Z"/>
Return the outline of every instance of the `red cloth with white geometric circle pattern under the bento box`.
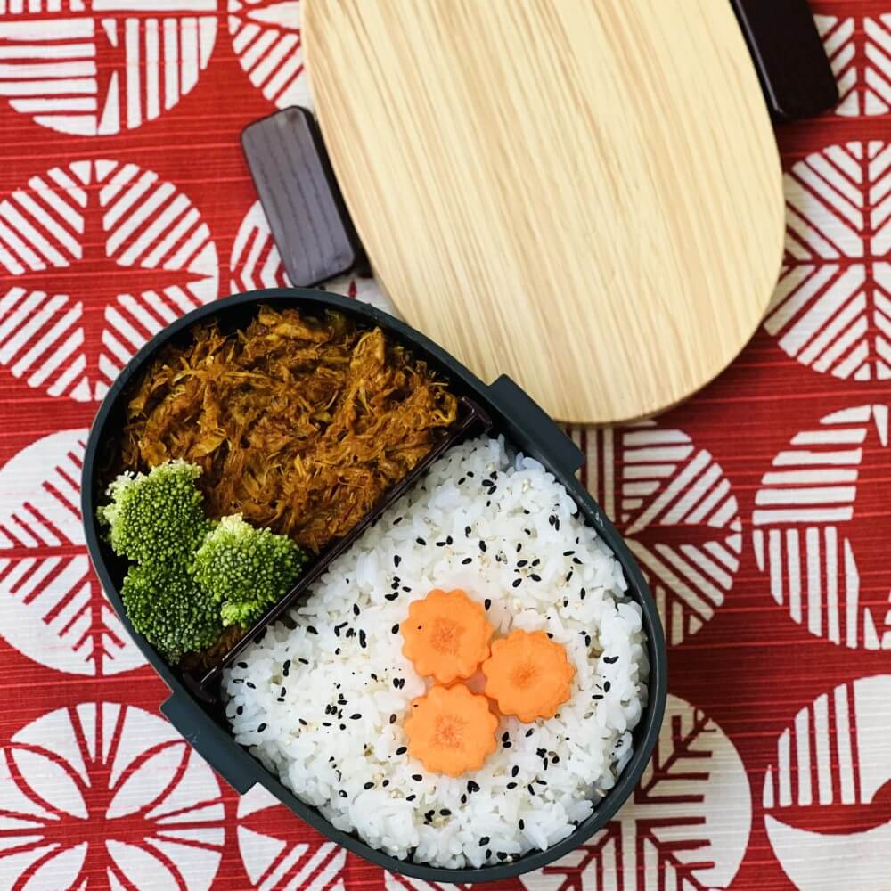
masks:
<path fill-rule="evenodd" d="M 238 137 L 307 102 L 299 6 L 0 0 L 0 888 L 421 887 L 177 737 L 78 513 L 135 349 L 285 283 Z M 814 9 L 842 100 L 778 128 L 763 328 L 657 421 L 572 430 L 666 622 L 656 755 L 606 830 L 505 886 L 891 888 L 891 3 Z"/>

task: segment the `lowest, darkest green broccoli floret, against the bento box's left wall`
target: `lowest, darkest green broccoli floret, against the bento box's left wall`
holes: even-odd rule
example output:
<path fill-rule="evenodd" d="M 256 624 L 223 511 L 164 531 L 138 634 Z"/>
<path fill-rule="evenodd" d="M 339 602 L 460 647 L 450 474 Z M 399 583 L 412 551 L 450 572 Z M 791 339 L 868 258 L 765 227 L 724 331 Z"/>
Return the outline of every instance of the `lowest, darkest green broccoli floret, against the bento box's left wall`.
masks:
<path fill-rule="evenodd" d="M 217 604 L 189 575 L 184 562 L 131 566 L 121 596 L 136 631 L 168 662 L 206 650 L 222 634 Z"/>

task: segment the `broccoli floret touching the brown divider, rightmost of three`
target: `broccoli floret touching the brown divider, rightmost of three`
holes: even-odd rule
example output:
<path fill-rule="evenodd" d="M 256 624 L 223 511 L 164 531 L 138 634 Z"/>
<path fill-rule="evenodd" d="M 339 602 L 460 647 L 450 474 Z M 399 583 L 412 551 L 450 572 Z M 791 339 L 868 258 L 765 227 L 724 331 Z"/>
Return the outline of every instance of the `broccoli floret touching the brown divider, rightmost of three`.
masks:
<path fill-rule="evenodd" d="M 221 603 L 224 625 L 251 625 L 288 593 L 307 556 L 287 535 L 224 517 L 201 544 L 192 573 Z"/>

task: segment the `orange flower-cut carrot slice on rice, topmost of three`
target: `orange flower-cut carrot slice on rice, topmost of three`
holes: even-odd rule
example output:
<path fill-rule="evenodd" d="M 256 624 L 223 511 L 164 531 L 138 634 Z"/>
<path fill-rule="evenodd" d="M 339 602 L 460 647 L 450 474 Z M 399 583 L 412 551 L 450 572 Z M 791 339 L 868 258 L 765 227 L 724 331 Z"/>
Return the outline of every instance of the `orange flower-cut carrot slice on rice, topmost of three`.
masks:
<path fill-rule="evenodd" d="M 435 589 L 414 601 L 401 628 L 405 658 L 418 674 L 439 683 L 470 677 L 489 655 L 493 632 L 486 610 L 460 589 Z"/>

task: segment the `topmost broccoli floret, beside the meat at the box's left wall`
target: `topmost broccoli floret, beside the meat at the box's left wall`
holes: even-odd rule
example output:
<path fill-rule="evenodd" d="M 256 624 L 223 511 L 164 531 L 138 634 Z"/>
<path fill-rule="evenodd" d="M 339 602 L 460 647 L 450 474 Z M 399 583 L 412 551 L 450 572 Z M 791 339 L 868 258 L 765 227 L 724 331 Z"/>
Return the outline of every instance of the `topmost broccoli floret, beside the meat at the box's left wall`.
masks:
<path fill-rule="evenodd" d="M 168 461 L 149 473 L 122 473 L 108 488 L 111 503 L 97 511 L 110 527 L 116 553 L 139 563 L 161 566 L 187 560 L 210 528 L 195 486 L 201 470 Z"/>

